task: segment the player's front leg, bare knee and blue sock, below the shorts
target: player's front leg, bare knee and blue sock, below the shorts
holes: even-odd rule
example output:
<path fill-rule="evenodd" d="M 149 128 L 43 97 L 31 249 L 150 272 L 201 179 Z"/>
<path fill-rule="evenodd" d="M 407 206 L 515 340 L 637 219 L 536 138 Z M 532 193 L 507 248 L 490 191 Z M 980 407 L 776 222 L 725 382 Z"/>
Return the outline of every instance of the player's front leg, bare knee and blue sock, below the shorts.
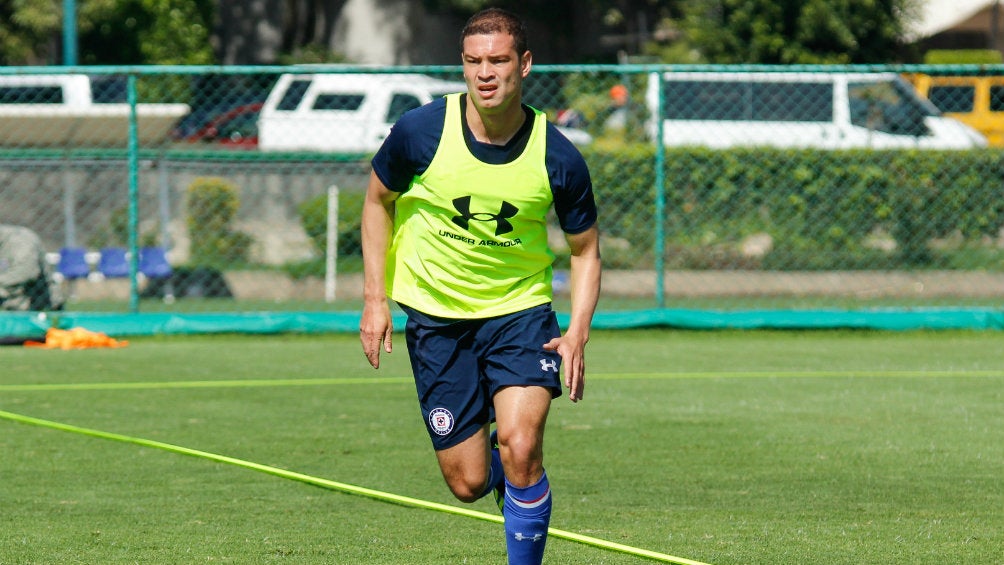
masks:
<path fill-rule="evenodd" d="M 510 565 L 543 560 L 551 519 L 551 490 L 544 472 L 544 425 L 551 390 L 507 386 L 495 393 L 499 452 L 505 469 L 506 549 Z"/>

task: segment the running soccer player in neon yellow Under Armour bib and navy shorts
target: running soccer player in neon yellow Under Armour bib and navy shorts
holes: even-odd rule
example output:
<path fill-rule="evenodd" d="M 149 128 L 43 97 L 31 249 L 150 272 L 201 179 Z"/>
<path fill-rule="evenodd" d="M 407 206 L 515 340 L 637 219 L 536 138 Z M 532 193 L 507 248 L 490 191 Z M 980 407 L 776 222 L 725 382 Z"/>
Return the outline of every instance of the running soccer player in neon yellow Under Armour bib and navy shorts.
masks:
<path fill-rule="evenodd" d="M 416 388 L 440 469 L 459 500 L 494 493 L 510 564 L 543 559 L 551 492 L 544 423 L 575 402 L 599 295 L 592 185 L 578 151 L 522 104 L 526 31 L 489 8 L 461 34 L 467 92 L 405 114 L 372 159 L 362 209 L 362 350 L 392 351 L 388 299 L 408 314 Z M 571 252 L 571 312 L 551 310 L 546 215 Z M 496 430 L 490 433 L 495 421 Z"/>

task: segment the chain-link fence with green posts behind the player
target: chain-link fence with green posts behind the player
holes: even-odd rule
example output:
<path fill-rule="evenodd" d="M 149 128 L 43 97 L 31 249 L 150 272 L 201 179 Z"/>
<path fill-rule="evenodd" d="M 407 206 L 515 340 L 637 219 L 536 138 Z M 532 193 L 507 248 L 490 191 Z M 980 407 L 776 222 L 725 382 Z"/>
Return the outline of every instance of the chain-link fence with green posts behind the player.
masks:
<path fill-rule="evenodd" d="M 358 309 L 368 159 L 464 87 L 453 67 L 0 70 L 0 224 L 37 234 L 71 311 Z M 600 309 L 998 306 L 1000 137 L 914 86 L 953 69 L 910 70 L 535 67 L 525 101 L 590 167 Z"/>

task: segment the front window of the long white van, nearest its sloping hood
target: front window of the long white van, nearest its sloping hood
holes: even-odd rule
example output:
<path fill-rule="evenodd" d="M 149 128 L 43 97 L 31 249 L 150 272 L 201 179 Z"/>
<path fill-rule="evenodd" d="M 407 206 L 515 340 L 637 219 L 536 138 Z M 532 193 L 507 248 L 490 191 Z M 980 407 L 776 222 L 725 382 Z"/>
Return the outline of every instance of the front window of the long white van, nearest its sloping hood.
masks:
<path fill-rule="evenodd" d="M 927 135 L 930 131 L 924 118 L 931 112 L 911 95 L 909 88 L 895 81 L 848 82 L 850 122 L 897 135 Z"/>

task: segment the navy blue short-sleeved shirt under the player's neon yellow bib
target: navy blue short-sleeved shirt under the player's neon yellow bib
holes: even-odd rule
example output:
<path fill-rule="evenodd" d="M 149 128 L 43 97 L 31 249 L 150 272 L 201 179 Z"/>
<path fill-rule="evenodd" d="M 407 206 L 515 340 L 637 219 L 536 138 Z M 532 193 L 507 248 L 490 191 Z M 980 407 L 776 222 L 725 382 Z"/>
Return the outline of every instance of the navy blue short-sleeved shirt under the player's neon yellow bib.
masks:
<path fill-rule="evenodd" d="M 461 103 L 460 107 L 463 114 L 465 104 Z M 518 157 L 526 147 L 533 127 L 532 111 L 525 106 L 524 111 L 528 118 L 504 146 L 475 139 L 465 116 L 464 135 L 471 154 L 489 165 L 509 163 Z M 409 111 L 395 123 L 371 162 L 373 173 L 388 189 L 406 192 L 412 180 L 425 173 L 436 157 L 445 120 L 446 98 L 437 98 Z M 575 146 L 552 123 L 547 123 L 546 135 L 544 166 L 551 183 L 558 224 L 566 233 L 582 233 L 596 222 L 589 170 Z"/>

